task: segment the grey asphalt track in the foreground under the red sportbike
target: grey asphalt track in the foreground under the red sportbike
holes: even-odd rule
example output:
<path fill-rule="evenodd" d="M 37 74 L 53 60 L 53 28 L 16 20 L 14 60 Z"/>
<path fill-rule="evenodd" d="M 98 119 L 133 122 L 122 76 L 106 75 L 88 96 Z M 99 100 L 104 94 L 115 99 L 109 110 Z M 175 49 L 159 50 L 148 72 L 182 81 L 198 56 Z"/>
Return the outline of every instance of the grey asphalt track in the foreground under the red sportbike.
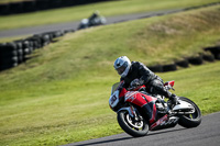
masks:
<path fill-rule="evenodd" d="M 117 119 L 116 119 L 117 120 Z M 64 146 L 219 146 L 220 112 L 202 116 L 198 127 L 179 125 L 155 132 L 144 137 L 131 137 L 127 133 L 90 139 Z"/>

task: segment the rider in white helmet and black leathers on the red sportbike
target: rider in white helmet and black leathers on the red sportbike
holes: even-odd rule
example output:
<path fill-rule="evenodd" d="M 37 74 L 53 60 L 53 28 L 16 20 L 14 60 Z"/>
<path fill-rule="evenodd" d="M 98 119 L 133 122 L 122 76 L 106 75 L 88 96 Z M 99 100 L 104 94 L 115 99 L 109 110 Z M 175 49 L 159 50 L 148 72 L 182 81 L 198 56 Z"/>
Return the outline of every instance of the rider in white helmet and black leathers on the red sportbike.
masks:
<path fill-rule="evenodd" d="M 124 81 L 124 88 L 145 85 L 147 92 L 164 96 L 170 100 L 172 104 L 177 103 L 177 96 L 166 90 L 163 80 L 142 63 L 131 63 L 127 56 L 121 56 L 117 58 L 113 67 L 121 76 L 120 80 Z"/>

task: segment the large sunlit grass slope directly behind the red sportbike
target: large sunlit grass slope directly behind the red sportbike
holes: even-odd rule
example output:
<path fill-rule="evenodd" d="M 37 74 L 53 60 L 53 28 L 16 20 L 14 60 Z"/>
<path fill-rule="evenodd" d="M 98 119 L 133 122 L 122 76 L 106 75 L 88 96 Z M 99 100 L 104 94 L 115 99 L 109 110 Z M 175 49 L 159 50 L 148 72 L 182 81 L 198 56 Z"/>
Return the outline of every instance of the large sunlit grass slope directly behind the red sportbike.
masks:
<path fill-rule="evenodd" d="M 62 145 L 122 133 L 108 105 L 119 81 L 114 59 L 153 65 L 195 55 L 219 41 L 219 13 L 211 7 L 78 31 L 0 72 L 0 145 Z M 175 93 L 205 115 L 220 111 L 219 72 L 216 61 L 157 75 L 175 80 Z"/>

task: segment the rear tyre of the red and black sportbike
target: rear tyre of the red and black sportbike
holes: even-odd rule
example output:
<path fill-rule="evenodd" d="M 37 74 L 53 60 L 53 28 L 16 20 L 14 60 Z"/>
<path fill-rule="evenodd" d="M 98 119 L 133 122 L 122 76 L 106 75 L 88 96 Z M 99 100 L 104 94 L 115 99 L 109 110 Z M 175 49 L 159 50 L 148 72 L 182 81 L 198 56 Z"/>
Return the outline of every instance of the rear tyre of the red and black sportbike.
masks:
<path fill-rule="evenodd" d="M 184 127 L 196 127 L 201 123 L 201 112 L 199 108 L 197 106 L 196 103 L 194 103 L 191 100 L 179 97 L 179 100 L 188 102 L 195 108 L 195 112 L 191 114 L 185 114 L 185 115 L 179 115 L 179 122 L 178 124 L 184 126 Z"/>

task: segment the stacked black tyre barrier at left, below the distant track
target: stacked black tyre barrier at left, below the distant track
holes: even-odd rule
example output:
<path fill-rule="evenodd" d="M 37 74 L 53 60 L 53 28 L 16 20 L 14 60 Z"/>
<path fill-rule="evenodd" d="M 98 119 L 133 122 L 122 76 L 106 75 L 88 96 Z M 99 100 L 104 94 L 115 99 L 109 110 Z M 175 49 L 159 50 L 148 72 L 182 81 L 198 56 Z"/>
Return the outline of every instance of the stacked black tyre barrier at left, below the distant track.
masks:
<path fill-rule="evenodd" d="M 10 43 L 0 44 L 0 71 L 10 69 L 31 58 L 33 50 L 53 43 L 56 37 L 75 30 L 54 31 L 42 34 L 34 34 L 24 40 L 16 40 Z"/>

